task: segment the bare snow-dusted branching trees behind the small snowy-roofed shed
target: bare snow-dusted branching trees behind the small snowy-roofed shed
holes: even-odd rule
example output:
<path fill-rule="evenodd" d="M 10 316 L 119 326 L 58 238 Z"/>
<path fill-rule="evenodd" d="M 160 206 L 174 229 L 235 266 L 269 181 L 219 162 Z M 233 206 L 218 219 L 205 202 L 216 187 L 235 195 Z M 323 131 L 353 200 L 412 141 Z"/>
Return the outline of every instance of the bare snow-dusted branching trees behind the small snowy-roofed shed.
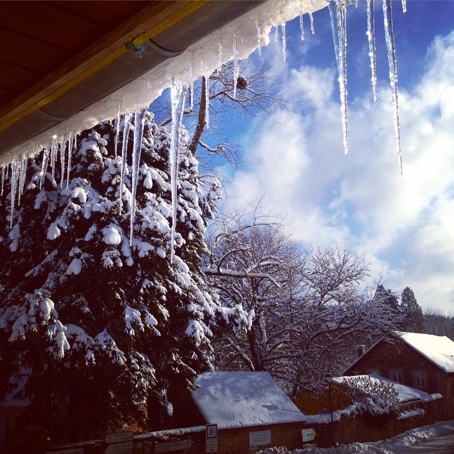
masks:
<path fill-rule="evenodd" d="M 394 332 L 395 315 L 360 290 L 363 259 L 343 248 L 304 251 L 279 221 L 247 220 L 224 221 L 203 268 L 222 303 L 250 319 L 246 331 L 219 335 L 219 368 L 265 370 L 294 393 L 313 390 L 342 371 L 337 353 L 355 335 Z"/>

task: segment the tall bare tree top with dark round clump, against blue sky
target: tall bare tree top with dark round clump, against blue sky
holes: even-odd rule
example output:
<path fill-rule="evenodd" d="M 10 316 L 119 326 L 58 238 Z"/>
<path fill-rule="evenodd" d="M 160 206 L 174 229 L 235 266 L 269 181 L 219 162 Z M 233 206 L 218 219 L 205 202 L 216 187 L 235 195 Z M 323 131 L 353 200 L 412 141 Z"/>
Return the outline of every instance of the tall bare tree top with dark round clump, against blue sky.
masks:
<path fill-rule="evenodd" d="M 273 67 L 264 62 L 256 67 L 252 60 L 241 62 L 241 75 L 237 80 L 236 96 L 234 89 L 234 64 L 228 62 L 209 77 L 209 126 L 206 118 L 206 83 L 205 77 L 194 85 L 194 103 L 192 108 L 184 110 L 185 126 L 192 134 L 189 149 L 192 153 L 212 168 L 217 158 L 222 158 L 232 166 L 241 163 L 240 146 L 228 139 L 231 125 L 246 118 L 262 115 L 273 116 L 277 110 L 291 110 L 295 100 L 286 99 L 275 89 Z M 189 96 L 189 93 L 188 93 Z M 155 101 L 152 107 L 161 126 L 172 121 L 168 103 Z M 206 136 L 206 139 L 205 139 Z"/>

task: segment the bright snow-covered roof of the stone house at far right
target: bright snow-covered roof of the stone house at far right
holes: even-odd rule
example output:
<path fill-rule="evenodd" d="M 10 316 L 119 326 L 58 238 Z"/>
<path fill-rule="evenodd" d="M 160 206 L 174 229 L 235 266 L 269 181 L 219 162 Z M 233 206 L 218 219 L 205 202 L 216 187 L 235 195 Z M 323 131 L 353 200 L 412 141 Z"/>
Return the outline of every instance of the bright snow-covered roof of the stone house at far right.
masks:
<path fill-rule="evenodd" d="M 444 372 L 454 372 L 454 342 L 449 337 L 417 332 L 400 332 L 399 338 Z M 366 356 L 383 340 L 380 339 L 376 342 L 364 355 L 357 358 L 346 371 L 354 367 L 361 358 Z"/>

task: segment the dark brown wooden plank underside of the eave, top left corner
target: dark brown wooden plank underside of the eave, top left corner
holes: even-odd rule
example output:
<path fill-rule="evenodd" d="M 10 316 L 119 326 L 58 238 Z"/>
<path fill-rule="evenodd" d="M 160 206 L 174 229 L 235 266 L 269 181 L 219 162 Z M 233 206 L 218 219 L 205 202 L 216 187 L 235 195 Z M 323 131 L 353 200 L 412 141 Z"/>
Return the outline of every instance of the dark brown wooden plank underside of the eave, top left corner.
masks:
<path fill-rule="evenodd" d="M 150 3 L 2 2 L 0 108 Z"/>

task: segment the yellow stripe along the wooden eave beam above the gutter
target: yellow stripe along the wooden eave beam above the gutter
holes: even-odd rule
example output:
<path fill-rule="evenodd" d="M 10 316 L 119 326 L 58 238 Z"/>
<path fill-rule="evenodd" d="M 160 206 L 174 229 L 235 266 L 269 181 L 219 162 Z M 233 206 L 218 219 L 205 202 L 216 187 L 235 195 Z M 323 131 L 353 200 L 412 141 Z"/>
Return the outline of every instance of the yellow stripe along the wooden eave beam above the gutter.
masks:
<path fill-rule="evenodd" d="M 134 40 L 132 41 L 132 44 L 135 46 L 142 44 L 147 39 L 150 39 L 153 36 L 156 36 L 157 34 L 166 30 L 168 27 L 179 22 L 180 20 L 182 20 L 189 14 L 193 13 L 194 11 L 198 10 L 200 7 L 202 7 L 203 5 L 205 5 L 208 2 L 209 2 L 209 0 L 195 0 L 190 5 L 188 5 L 186 8 L 184 8 L 184 9 L 180 10 L 178 13 L 176 13 L 174 16 L 169 17 L 167 20 L 156 25 L 151 30 L 143 32 L 140 36 L 138 36 L 137 38 L 134 38 Z M 62 85 L 61 87 L 55 89 L 52 93 L 49 93 L 48 95 L 39 99 L 38 101 L 36 101 L 35 103 L 33 103 L 32 105 L 27 107 L 26 109 L 19 112 L 16 116 L 11 118 L 10 120 L 0 124 L 0 131 L 3 131 L 5 129 L 9 128 L 14 123 L 16 123 L 19 120 L 22 120 L 23 118 L 30 115 L 30 113 L 43 107 L 44 105 L 48 104 L 49 102 L 53 101 L 54 99 L 60 97 L 62 94 L 66 93 L 68 90 L 75 87 L 76 85 L 78 85 L 79 83 L 81 83 L 82 81 L 84 81 L 85 79 L 90 77 L 92 74 L 99 71 L 101 68 L 104 68 L 109 63 L 113 62 L 114 60 L 117 60 L 121 55 L 128 52 L 128 50 L 125 47 L 126 44 L 127 43 L 125 42 L 122 47 L 118 48 L 117 50 L 113 51 L 109 55 L 105 56 L 102 60 L 100 60 L 99 62 L 94 64 L 92 67 L 88 68 L 87 70 L 85 70 L 83 73 L 78 74 L 73 79 L 66 82 L 64 85 Z"/>

